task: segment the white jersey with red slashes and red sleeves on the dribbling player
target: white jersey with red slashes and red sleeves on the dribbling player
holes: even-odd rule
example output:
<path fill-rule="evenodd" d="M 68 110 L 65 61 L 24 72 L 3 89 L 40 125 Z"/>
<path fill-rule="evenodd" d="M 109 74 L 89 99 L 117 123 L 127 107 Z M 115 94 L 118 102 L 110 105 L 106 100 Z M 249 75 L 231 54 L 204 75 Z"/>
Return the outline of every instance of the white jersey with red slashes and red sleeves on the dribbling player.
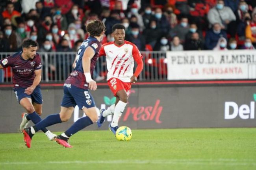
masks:
<path fill-rule="evenodd" d="M 141 60 L 142 55 L 137 46 L 129 41 L 118 46 L 114 42 L 108 42 L 101 46 L 99 57 L 106 56 L 108 78 L 117 78 L 123 82 L 130 82 L 134 74 L 134 60 Z"/>

